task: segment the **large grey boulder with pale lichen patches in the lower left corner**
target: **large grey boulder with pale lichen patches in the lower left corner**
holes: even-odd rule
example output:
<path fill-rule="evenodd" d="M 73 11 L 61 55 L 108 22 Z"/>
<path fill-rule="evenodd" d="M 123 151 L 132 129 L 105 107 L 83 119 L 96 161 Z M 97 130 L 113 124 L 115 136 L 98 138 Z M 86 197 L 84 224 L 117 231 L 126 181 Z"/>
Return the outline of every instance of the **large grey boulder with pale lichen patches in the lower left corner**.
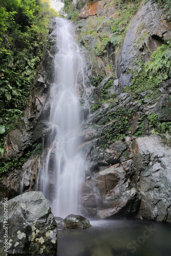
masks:
<path fill-rule="evenodd" d="M 8 255 L 50 255 L 57 250 L 57 226 L 47 199 L 40 191 L 17 196 L 8 202 L 8 226 L 4 205 L 0 209 L 1 255 L 8 229 Z M 4 253 L 4 254 L 3 254 Z"/>

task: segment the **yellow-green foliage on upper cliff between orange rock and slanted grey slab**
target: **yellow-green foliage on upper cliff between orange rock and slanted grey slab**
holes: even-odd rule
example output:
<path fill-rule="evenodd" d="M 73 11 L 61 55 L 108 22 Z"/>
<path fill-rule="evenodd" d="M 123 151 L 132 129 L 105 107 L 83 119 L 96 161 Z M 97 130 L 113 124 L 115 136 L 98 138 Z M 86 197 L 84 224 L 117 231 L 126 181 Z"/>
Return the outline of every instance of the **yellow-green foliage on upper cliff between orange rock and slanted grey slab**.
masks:
<path fill-rule="evenodd" d="M 71 4 L 70 0 L 69 2 Z M 77 32 L 81 32 L 82 36 L 93 35 L 96 38 L 97 41 L 94 50 L 97 56 L 108 54 L 108 46 L 110 44 L 113 44 L 117 49 L 121 46 L 128 26 L 141 2 L 142 0 L 113 0 L 110 3 L 106 2 L 106 8 L 110 9 L 111 6 L 115 7 L 115 17 L 111 17 L 110 20 L 106 19 L 104 16 L 88 19 L 85 30 Z M 70 10 L 72 8 L 70 8 Z"/>

